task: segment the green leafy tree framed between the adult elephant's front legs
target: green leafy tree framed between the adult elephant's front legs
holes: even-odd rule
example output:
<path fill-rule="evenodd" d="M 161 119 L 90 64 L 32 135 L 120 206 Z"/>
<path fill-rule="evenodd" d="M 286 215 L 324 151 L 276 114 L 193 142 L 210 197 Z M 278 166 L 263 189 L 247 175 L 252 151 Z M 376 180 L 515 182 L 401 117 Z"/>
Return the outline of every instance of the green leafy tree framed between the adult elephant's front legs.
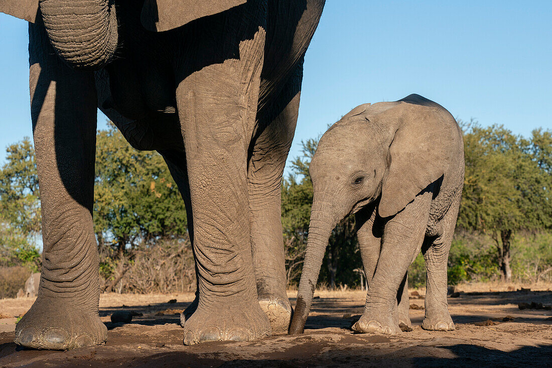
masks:
<path fill-rule="evenodd" d="M 112 123 L 97 135 L 94 231 L 115 257 L 187 232 L 184 202 L 161 155 L 135 150 Z"/>

